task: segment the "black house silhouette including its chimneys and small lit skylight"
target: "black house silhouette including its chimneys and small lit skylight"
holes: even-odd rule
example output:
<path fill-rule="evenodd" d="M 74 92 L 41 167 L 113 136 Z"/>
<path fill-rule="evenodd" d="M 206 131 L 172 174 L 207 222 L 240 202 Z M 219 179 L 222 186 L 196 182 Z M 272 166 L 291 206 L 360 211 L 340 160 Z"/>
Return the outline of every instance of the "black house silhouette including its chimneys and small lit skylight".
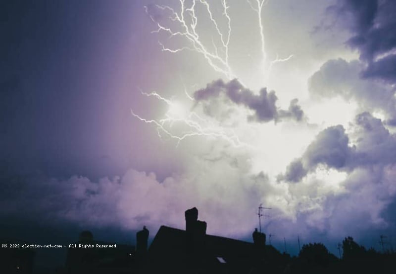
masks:
<path fill-rule="evenodd" d="M 253 242 L 207 235 L 198 209 L 185 212 L 186 230 L 161 226 L 140 270 L 142 274 L 263 273 L 284 269 L 282 255 L 265 244 L 265 234 L 254 231 Z"/>

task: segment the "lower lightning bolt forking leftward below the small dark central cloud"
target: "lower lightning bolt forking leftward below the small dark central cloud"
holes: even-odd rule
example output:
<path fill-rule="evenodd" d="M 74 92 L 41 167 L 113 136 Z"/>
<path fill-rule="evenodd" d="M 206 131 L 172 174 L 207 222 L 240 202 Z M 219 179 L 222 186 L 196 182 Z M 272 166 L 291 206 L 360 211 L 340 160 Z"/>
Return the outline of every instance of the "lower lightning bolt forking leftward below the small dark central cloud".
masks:
<path fill-rule="evenodd" d="M 220 138 L 227 141 L 229 144 L 236 148 L 240 147 L 252 147 L 244 142 L 242 142 L 239 137 L 235 134 L 234 130 L 225 130 L 223 127 L 215 124 L 212 121 L 209 121 L 203 117 L 200 117 L 196 112 L 190 111 L 188 115 L 184 116 L 182 114 L 173 114 L 171 109 L 175 106 L 175 102 L 171 99 L 167 99 L 159 95 L 157 92 L 153 91 L 151 93 L 146 93 L 141 91 L 141 93 L 148 97 L 155 97 L 156 99 L 165 102 L 169 109 L 165 113 L 165 117 L 162 119 L 146 119 L 138 114 L 136 114 L 131 109 L 131 114 L 138 118 L 139 120 L 156 125 L 157 133 L 159 138 L 163 138 L 163 134 L 167 135 L 171 139 L 175 139 L 177 141 L 177 145 L 179 146 L 182 140 L 193 136 L 204 136 L 209 138 Z M 194 100 L 190 95 L 188 95 L 186 91 L 186 95 Z M 172 130 L 172 126 L 174 123 L 180 123 L 188 128 L 188 130 L 182 133 L 175 133 Z"/>

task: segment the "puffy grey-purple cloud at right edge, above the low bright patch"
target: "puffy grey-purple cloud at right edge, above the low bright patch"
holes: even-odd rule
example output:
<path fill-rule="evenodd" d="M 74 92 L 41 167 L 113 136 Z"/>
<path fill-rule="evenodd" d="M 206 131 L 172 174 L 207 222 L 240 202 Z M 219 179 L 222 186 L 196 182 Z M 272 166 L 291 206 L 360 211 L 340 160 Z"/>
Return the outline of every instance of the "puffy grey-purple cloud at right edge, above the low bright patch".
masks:
<path fill-rule="evenodd" d="M 347 172 L 356 168 L 394 165 L 395 152 L 396 136 L 389 132 L 381 119 L 364 112 L 355 117 L 350 136 L 342 125 L 321 131 L 302 157 L 291 162 L 280 178 L 298 182 L 318 164 Z"/>

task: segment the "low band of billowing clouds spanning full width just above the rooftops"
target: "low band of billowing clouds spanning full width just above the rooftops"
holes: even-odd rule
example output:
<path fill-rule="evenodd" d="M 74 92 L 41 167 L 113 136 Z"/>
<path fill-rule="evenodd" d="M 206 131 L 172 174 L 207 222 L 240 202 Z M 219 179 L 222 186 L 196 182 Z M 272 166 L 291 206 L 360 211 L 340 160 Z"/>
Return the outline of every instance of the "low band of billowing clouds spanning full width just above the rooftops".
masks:
<path fill-rule="evenodd" d="M 164 180 L 135 169 L 98 181 L 41 174 L 2 178 L 8 185 L 1 214 L 23 211 L 39 219 L 126 229 L 147 225 L 155 233 L 160 225 L 184 228 L 184 210 L 197 206 L 208 233 L 236 237 L 257 226 L 255 209 L 263 202 L 273 208 L 271 221 L 263 223 L 267 232 L 359 235 L 395 226 L 384 217 L 396 196 L 394 151 L 395 135 L 380 119 L 362 113 L 351 132 L 341 125 L 321 131 L 278 182 L 252 173 L 248 153 L 217 147 L 186 159 L 186 170 Z M 339 177 L 320 177 L 321 169 Z"/>

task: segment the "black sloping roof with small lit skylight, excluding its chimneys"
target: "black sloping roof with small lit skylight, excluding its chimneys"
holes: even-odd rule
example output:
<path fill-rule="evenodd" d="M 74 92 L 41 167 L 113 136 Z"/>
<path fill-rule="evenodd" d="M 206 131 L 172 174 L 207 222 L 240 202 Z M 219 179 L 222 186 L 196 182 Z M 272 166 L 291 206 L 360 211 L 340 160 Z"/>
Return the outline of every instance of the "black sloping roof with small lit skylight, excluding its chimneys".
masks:
<path fill-rule="evenodd" d="M 269 257 L 280 255 L 272 246 L 257 248 L 252 242 L 221 236 L 203 235 L 201 241 L 191 248 L 186 231 L 161 226 L 148 249 L 147 273 L 189 273 L 192 269 L 204 273 L 255 273 L 254 269 L 261 269 Z"/>

